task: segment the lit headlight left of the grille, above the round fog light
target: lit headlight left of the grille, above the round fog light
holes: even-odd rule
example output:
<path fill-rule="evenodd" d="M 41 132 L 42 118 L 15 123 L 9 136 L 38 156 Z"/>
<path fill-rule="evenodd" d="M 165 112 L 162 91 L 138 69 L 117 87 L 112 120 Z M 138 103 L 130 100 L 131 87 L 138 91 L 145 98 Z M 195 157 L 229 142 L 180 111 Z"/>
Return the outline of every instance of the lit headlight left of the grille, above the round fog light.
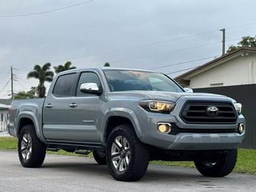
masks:
<path fill-rule="evenodd" d="M 170 113 L 175 108 L 175 103 L 166 101 L 140 101 L 139 105 L 146 111 L 157 113 Z"/>

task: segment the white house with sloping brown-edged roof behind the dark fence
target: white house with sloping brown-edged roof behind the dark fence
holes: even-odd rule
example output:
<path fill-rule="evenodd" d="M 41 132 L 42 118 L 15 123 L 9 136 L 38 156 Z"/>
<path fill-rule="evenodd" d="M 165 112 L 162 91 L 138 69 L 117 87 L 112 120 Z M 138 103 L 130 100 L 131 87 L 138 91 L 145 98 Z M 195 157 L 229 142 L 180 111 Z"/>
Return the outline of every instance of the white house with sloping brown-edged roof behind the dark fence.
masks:
<path fill-rule="evenodd" d="M 175 78 L 188 88 L 256 84 L 256 48 L 242 47 Z"/>

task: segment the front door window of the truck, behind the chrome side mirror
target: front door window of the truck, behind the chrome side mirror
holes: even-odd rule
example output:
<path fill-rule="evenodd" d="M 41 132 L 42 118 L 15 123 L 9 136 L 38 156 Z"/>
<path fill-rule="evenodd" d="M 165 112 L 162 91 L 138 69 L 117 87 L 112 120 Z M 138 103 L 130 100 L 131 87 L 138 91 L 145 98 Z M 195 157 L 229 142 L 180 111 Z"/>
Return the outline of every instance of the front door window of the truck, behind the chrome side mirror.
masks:
<path fill-rule="evenodd" d="M 99 80 L 97 74 L 95 74 L 94 72 L 84 72 L 80 75 L 78 86 L 76 88 L 76 96 L 85 97 L 88 95 L 80 91 L 81 84 L 85 83 L 95 83 L 98 85 L 98 88 L 101 88 L 101 81 Z"/>

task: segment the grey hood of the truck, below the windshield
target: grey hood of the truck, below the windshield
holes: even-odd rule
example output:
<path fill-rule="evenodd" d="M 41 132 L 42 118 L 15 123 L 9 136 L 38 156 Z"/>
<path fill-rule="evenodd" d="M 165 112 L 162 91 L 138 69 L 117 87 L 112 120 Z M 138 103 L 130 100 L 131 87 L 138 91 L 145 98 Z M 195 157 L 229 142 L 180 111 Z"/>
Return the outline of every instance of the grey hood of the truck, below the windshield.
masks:
<path fill-rule="evenodd" d="M 188 97 L 188 98 L 228 98 L 220 94 L 207 94 L 207 93 L 187 93 L 187 92 L 167 92 L 167 91 L 118 91 L 111 92 L 108 94 L 111 99 L 128 99 L 128 100 L 144 100 L 152 99 L 159 101 L 177 101 L 178 98 Z"/>

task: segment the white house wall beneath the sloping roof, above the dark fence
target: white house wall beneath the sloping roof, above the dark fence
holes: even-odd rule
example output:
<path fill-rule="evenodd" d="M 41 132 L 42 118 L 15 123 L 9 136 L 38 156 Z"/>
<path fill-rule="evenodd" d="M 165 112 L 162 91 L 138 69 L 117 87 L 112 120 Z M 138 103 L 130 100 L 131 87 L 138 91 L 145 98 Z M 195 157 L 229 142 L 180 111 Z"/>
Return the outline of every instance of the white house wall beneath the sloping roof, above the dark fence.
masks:
<path fill-rule="evenodd" d="M 190 79 L 190 88 L 255 84 L 256 54 L 234 58 Z"/>

